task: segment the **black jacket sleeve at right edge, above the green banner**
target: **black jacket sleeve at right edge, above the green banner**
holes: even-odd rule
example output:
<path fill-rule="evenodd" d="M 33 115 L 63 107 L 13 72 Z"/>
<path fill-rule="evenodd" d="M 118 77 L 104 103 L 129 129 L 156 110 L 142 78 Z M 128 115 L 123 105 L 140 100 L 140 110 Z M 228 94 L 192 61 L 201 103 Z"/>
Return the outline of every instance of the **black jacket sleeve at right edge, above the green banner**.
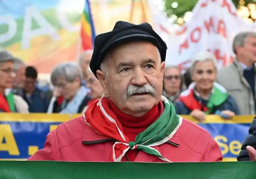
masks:
<path fill-rule="evenodd" d="M 237 157 L 237 161 L 251 161 L 246 146 L 252 146 L 256 149 L 256 117 L 254 117 L 249 128 L 249 134 L 244 139 L 242 149 Z"/>

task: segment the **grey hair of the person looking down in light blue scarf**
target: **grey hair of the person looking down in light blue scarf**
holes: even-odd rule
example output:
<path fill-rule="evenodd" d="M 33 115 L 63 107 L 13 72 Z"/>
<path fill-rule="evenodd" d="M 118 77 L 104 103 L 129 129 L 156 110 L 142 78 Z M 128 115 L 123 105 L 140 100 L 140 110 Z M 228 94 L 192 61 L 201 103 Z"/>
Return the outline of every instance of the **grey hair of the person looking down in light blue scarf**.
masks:
<path fill-rule="evenodd" d="M 82 80 L 82 71 L 76 62 L 63 62 L 52 70 L 51 82 L 53 85 L 59 77 L 65 78 L 67 82 L 74 82 L 76 78 Z"/>

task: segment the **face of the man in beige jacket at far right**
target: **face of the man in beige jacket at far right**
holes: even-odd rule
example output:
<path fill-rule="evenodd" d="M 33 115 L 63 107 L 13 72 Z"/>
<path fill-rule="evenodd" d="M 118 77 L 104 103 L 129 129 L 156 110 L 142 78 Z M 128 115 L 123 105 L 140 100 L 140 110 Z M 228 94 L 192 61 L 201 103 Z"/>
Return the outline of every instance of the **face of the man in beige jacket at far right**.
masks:
<path fill-rule="evenodd" d="M 247 37 L 244 41 L 244 47 L 239 47 L 240 52 L 243 54 L 248 63 L 253 64 L 256 62 L 256 38 Z"/>

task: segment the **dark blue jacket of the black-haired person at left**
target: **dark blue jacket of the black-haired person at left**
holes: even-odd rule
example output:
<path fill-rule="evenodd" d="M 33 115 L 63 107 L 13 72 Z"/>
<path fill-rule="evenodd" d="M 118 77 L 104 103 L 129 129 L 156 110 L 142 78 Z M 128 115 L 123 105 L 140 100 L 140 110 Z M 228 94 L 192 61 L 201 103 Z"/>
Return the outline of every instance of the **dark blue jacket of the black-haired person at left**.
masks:
<path fill-rule="evenodd" d="M 49 106 L 49 99 L 46 97 L 44 92 L 35 88 L 30 98 L 26 96 L 26 92 L 23 90 L 23 99 L 28 103 L 30 113 L 45 113 Z"/>

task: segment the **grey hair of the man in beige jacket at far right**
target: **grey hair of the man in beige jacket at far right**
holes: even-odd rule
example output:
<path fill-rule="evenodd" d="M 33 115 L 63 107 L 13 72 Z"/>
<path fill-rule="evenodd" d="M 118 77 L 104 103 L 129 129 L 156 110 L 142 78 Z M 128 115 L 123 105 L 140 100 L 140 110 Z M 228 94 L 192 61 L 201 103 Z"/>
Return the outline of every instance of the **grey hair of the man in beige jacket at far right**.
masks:
<path fill-rule="evenodd" d="M 240 33 L 236 34 L 236 36 L 233 40 L 233 44 L 232 44 L 234 54 L 237 53 L 236 46 L 244 47 L 244 42 L 247 37 L 255 37 L 256 38 L 256 33 L 255 32 L 240 32 Z"/>

